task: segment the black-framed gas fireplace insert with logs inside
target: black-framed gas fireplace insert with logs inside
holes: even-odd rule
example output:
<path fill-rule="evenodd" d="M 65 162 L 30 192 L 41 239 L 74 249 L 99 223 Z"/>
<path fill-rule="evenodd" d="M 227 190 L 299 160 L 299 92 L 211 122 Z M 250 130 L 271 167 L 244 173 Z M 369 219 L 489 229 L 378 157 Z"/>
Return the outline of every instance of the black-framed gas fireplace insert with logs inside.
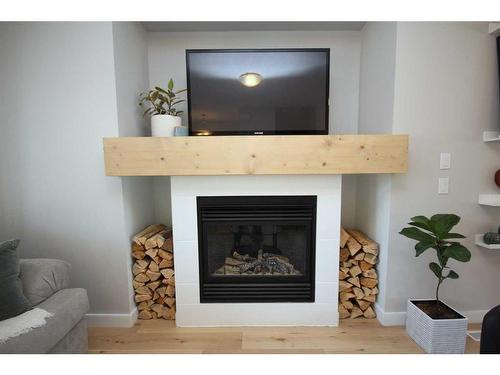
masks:
<path fill-rule="evenodd" d="M 197 197 L 200 302 L 314 302 L 316 200 Z"/>

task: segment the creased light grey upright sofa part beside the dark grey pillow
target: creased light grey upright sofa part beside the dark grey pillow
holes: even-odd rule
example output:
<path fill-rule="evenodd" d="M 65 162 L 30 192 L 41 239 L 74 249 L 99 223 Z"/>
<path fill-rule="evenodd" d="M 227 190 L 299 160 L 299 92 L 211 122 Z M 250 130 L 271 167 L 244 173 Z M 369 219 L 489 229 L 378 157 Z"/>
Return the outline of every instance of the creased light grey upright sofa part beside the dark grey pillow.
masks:
<path fill-rule="evenodd" d="M 33 306 L 70 284 L 68 262 L 59 259 L 21 259 L 23 293 Z"/>

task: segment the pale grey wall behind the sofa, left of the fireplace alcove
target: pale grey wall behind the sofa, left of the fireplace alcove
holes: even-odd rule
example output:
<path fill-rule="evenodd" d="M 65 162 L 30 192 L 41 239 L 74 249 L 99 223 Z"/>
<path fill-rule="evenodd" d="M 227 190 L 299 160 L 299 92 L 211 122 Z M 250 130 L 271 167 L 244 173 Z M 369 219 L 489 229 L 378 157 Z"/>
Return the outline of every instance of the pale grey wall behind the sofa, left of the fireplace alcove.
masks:
<path fill-rule="evenodd" d="M 117 136 L 110 23 L 0 24 L 0 238 L 67 260 L 91 311 L 129 313 L 122 185 L 104 175 Z"/>

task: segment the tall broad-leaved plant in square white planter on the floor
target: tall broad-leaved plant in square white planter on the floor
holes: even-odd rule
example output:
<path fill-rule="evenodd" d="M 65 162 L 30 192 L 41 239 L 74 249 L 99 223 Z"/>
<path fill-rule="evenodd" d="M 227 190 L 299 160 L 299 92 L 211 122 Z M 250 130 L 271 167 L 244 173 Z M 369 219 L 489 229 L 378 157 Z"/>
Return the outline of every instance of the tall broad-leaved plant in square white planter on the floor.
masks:
<path fill-rule="evenodd" d="M 439 288 L 447 279 L 458 279 L 458 274 L 448 267 L 450 259 L 468 262 L 470 251 L 456 239 L 465 238 L 451 233 L 460 217 L 452 214 L 438 214 L 430 219 L 415 216 L 408 223 L 411 227 L 399 232 L 418 241 L 416 256 L 428 249 L 436 251 L 437 262 L 429 268 L 437 277 L 436 299 L 408 300 L 406 310 L 406 332 L 427 353 L 464 353 L 467 335 L 467 318 L 439 299 Z"/>

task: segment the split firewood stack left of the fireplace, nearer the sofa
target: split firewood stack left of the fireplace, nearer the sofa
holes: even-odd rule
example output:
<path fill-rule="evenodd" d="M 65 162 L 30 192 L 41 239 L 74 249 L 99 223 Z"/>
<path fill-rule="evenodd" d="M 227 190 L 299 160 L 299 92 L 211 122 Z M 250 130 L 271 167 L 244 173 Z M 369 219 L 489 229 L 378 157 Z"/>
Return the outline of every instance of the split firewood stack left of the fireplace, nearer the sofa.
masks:
<path fill-rule="evenodd" d="M 172 231 L 150 225 L 132 242 L 132 281 L 139 319 L 175 319 L 175 277 Z"/>

